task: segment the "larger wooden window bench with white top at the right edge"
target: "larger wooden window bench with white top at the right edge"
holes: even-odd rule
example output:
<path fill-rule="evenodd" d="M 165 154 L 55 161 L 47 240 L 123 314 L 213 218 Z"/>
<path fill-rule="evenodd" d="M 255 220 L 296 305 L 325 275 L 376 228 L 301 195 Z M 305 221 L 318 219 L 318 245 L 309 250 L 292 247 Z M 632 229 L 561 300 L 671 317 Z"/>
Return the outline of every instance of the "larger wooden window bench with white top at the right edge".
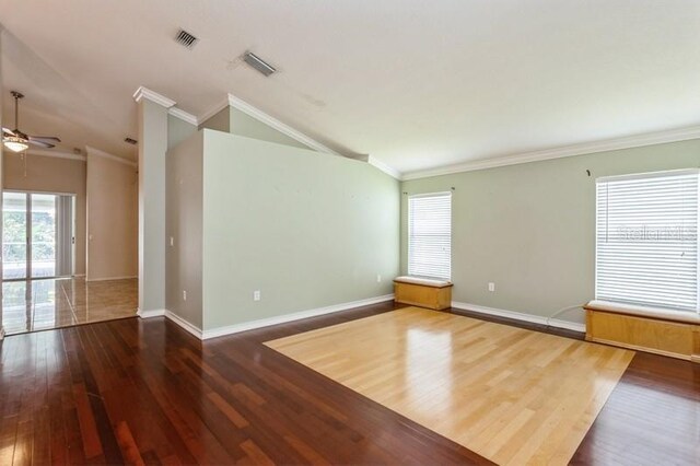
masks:
<path fill-rule="evenodd" d="M 586 340 L 700 362 L 700 316 L 629 304 L 591 301 Z"/>

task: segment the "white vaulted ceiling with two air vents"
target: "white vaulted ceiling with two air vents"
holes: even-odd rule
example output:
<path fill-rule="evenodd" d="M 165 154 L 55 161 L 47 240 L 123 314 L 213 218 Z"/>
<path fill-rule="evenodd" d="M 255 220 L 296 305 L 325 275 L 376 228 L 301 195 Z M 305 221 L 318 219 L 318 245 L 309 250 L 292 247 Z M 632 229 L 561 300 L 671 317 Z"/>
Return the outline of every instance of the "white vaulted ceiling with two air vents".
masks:
<path fill-rule="evenodd" d="M 136 135 L 140 85 L 194 115 L 232 93 L 400 172 L 700 124 L 697 0 L 0 0 L 0 11 L 5 91 L 27 94 L 22 129 L 120 156 L 136 154 L 121 140 Z M 180 26 L 200 38 L 192 50 L 174 42 Z M 242 65 L 247 49 L 280 72 Z"/>

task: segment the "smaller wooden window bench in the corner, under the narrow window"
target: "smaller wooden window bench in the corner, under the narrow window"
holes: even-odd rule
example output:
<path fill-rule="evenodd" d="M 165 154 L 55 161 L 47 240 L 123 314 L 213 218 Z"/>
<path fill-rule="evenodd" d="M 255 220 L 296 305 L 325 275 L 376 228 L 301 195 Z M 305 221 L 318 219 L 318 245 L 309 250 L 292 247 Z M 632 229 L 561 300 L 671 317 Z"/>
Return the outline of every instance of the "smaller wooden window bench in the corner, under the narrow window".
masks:
<path fill-rule="evenodd" d="M 397 277 L 394 280 L 394 301 L 443 311 L 452 306 L 452 283 L 419 277 Z"/>

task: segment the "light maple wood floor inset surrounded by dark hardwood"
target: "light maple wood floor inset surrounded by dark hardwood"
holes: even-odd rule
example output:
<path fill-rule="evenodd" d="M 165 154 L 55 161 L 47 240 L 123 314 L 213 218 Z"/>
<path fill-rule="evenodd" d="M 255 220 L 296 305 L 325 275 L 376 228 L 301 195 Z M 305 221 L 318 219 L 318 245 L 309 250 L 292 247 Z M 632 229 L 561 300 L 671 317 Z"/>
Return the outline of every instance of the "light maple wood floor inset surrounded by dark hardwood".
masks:
<path fill-rule="evenodd" d="M 567 464 L 633 351 L 405 307 L 266 345 L 498 464 Z"/>

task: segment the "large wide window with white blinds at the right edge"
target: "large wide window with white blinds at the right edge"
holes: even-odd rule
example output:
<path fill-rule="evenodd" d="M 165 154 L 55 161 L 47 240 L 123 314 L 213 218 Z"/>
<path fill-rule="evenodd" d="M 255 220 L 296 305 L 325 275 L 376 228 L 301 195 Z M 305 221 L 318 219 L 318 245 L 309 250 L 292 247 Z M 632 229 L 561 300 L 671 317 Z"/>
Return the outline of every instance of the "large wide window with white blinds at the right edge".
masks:
<path fill-rule="evenodd" d="M 596 180 L 596 300 L 698 312 L 698 171 Z"/>

